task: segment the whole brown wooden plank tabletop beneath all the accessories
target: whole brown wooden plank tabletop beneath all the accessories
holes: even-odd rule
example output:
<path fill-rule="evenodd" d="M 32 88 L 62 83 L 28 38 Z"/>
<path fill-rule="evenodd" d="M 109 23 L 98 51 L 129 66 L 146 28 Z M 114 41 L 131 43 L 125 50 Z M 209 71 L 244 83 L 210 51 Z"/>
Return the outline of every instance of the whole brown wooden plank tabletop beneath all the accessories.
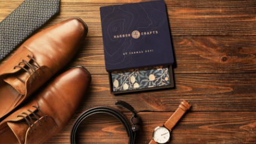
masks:
<path fill-rule="evenodd" d="M 66 68 L 82 65 L 92 75 L 90 90 L 72 120 L 45 143 L 70 143 L 71 127 L 81 112 L 96 105 L 116 107 L 117 99 L 137 111 L 154 111 L 139 114 L 143 126 L 136 143 L 149 143 L 154 128 L 163 125 L 184 99 L 192 107 L 173 128 L 169 143 L 256 143 L 256 1 L 165 0 L 175 88 L 114 96 L 105 70 L 99 8 L 141 1 L 61 0 L 60 14 L 40 29 L 72 17 L 84 20 L 87 38 Z M 22 2 L 0 0 L 0 21 Z M 128 141 L 121 123 L 107 115 L 90 117 L 80 129 L 81 143 Z"/>

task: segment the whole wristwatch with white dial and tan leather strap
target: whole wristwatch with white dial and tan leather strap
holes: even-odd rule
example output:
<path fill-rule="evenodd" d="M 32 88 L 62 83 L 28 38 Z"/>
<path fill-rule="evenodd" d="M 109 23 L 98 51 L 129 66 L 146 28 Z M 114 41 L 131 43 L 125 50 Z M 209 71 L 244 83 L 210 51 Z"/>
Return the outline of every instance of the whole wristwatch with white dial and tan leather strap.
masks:
<path fill-rule="evenodd" d="M 190 106 L 191 105 L 185 100 L 182 101 L 178 109 L 174 112 L 173 115 L 171 115 L 171 117 L 164 123 L 164 125 L 155 128 L 155 131 L 153 132 L 153 138 L 149 144 L 169 142 L 171 129 L 177 124 L 185 112 L 190 109 Z"/>

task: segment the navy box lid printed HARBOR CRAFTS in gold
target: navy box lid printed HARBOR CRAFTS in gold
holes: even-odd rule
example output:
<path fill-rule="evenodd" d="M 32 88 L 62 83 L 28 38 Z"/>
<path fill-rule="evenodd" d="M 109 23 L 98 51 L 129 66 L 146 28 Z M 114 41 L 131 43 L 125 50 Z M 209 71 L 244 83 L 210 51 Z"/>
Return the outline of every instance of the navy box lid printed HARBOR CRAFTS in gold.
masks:
<path fill-rule="evenodd" d="M 174 63 L 164 1 L 100 8 L 107 71 Z"/>

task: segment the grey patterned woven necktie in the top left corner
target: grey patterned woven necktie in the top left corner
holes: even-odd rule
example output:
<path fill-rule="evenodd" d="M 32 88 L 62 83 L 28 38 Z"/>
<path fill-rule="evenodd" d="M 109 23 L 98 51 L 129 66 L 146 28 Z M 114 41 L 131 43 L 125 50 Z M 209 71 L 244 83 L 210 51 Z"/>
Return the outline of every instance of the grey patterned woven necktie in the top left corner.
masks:
<path fill-rule="evenodd" d="M 0 60 L 59 12 L 60 0 L 26 0 L 0 23 Z"/>

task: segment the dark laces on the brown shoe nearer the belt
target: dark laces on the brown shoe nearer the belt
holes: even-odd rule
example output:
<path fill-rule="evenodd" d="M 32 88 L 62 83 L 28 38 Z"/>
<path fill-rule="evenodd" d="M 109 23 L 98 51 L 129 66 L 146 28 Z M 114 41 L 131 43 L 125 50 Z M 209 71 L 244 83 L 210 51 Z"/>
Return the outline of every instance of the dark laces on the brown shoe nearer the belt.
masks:
<path fill-rule="evenodd" d="M 33 107 L 35 107 L 38 111 L 40 111 L 40 112 L 42 113 L 43 117 L 45 117 L 45 122 L 47 122 L 47 117 L 46 117 L 46 115 L 43 114 L 43 112 L 39 109 L 39 107 L 37 107 L 37 106 L 33 106 Z M 41 126 L 41 125 L 42 125 L 42 122 L 41 122 L 41 120 L 40 120 L 40 117 L 41 117 L 41 116 L 40 116 L 39 114 L 37 114 L 37 113 L 35 114 L 35 113 L 34 113 L 33 111 L 31 111 L 31 110 L 27 110 L 27 111 L 29 111 L 29 112 L 31 112 L 31 114 L 33 114 L 33 116 L 35 117 L 34 119 L 36 119 L 36 120 L 39 122 L 40 126 Z M 17 117 L 23 117 L 24 120 L 27 121 L 27 124 L 28 124 L 28 126 L 29 126 L 29 128 L 30 128 L 30 132 L 32 133 L 33 130 L 32 130 L 31 125 L 33 125 L 33 126 L 35 127 L 35 130 L 37 129 L 37 127 L 36 127 L 36 125 L 35 125 L 35 122 L 33 122 L 32 117 L 29 116 L 29 115 L 27 114 L 27 112 L 22 112 L 22 114 L 27 115 L 28 118 L 29 118 L 29 120 L 32 122 L 32 124 L 29 122 L 29 120 L 27 119 L 26 116 L 18 115 Z"/>

